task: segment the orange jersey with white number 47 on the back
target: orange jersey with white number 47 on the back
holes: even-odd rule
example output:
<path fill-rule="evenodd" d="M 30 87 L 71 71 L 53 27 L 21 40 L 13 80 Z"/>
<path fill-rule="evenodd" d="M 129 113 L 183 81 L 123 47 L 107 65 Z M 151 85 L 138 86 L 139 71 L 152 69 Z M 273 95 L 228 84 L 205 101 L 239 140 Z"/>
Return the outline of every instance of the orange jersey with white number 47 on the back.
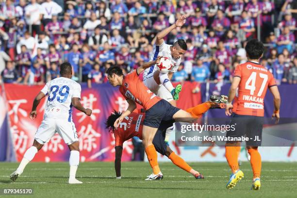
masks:
<path fill-rule="evenodd" d="M 247 62 L 235 68 L 235 76 L 241 80 L 232 111 L 238 115 L 264 116 L 267 87 L 276 86 L 272 73 L 260 64 Z"/>

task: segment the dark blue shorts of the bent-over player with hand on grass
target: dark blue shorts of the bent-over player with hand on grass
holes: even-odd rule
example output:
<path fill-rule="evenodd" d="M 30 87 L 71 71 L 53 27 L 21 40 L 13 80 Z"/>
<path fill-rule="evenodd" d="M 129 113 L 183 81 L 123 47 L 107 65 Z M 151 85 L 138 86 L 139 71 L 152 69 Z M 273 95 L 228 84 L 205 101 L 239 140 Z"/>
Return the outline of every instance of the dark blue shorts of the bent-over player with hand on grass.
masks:
<path fill-rule="evenodd" d="M 167 150 L 167 144 L 165 143 L 166 129 L 171 127 L 173 123 L 174 123 L 174 120 L 162 121 L 158 131 L 154 136 L 153 145 L 156 151 L 162 155 L 165 155 Z"/>

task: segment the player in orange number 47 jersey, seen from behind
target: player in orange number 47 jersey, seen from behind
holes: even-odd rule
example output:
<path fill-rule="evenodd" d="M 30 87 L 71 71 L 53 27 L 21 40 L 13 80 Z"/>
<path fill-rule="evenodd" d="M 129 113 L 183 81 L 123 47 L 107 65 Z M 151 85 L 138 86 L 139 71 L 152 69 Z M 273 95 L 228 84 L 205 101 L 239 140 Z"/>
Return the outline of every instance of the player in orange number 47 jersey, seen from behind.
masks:
<path fill-rule="evenodd" d="M 258 190 L 261 186 L 261 156 L 258 152 L 258 146 L 261 146 L 261 141 L 253 140 L 257 136 L 260 140 L 262 138 L 264 97 L 267 88 L 269 88 L 274 97 L 274 113 L 272 117 L 276 117 L 276 123 L 280 118 L 281 97 L 273 75 L 259 64 L 259 59 L 263 56 L 264 51 L 263 44 L 257 39 L 252 39 L 247 42 L 245 49 L 248 61 L 235 68 L 226 104 L 226 115 L 232 116 L 231 125 L 235 124 L 235 131 L 228 131 L 226 137 L 242 137 L 246 135 L 250 140 L 252 139 L 251 141 L 246 141 L 246 144 L 253 170 L 252 189 Z M 240 149 L 240 142 L 227 142 L 225 148 L 226 159 L 232 170 L 226 187 L 232 188 L 244 176 L 243 172 L 239 170 L 237 161 L 237 149 Z"/>

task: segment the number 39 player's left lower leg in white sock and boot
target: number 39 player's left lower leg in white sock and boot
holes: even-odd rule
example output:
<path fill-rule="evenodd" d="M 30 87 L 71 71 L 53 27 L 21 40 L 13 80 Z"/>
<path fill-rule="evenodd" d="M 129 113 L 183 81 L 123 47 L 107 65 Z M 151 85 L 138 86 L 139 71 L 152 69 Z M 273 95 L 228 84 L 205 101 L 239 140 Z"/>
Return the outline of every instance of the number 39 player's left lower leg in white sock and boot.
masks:
<path fill-rule="evenodd" d="M 42 148 L 42 146 L 43 144 L 39 144 L 36 140 L 34 140 L 33 146 L 28 148 L 25 152 L 24 157 L 18 165 L 16 171 L 10 174 L 10 179 L 12 181 L 16 181 L 16 179 L 23 173 L 26 165 L 33 160 L 35 154 Z"/>

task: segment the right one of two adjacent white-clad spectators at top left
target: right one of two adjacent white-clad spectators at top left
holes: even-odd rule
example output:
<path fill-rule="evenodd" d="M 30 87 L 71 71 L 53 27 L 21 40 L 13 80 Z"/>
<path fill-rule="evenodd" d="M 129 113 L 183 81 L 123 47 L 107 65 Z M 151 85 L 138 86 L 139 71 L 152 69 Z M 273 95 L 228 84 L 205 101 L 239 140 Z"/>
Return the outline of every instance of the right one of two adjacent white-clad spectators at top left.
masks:
<path fill-rule="evenodd" d="M 52 1 L 52 0 L 46 0 L 46 2 L 41 4 L 41 7 L 43 9 L 43 25 L 46 26 L 52 19 L 53 15 L 58 15 L 63 11 L 62 7 Z"/>

